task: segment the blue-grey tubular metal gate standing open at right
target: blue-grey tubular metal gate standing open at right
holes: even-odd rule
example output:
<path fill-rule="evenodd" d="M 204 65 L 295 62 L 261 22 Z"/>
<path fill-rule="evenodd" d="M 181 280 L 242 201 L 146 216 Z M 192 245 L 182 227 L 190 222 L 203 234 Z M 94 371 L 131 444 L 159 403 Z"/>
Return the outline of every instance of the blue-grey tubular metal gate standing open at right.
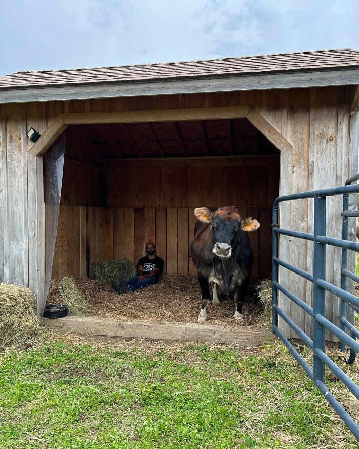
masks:
<path fill-rule="evenodd" d="M 359 426 L 348 415 L 344 407 L 328 391 L 324 384 L 324 371 L 327 366 L 343 384 L 359 399 L 359 386 L 356 385 L 344 372 L 325 354 L 325 329 L 338 337 L 340 340 L 340 349 L 345 352 L 346 345 L 350 348 L 350 355 L 346 363 L 353 363 L 356 354 L 359 353 L 359 344 L 356 338 L 359 338 L 359 331 L 348 321 L 349 314 L 353 315 L 353 310 L 359 313 L 359 299 L 347 291 L 347 278 L 359 282 L 359 277 L 350 272 L 347 268 L 347 252 L 359 252 L 359 243 L 348 239 L 348 218 L 359 217 L 359 212 L 349 211 L 349 194 L 359 192 L 359 185 L 351 185 L 359 179 L 359 174 L 348 179 L 343 187 L 335 187 L 323 190 L 314 190 L 311 192 L 296 193 L 279 197 L 273 204 L 272 216 L 272 280 L 273 280 L 273 333 L 275 333 L 289 349 L 297 362 L 305 370 L 306 374 L 313 380 L 317 388 L 321 391 L 325 399 L 335 409 L 336 413 L 343 419 L 350 431 L 359 440 Z M 327 197 L 334 195 L 343 196 L 343 225 L 342 239 L 326 237 L 326 202 Z M 296 232 L 288 229 L 281 229 L 278 226 L 278 207 L 284 201 L 298 199 L 314 199 L 314 233 Z M 313 242 L 313 274 L 308 273 L 298 267 L 295 267 L 287 261 L 278 258 L 278 236 L 285 235 L 296 237 L 298 239 L 310 240 Z M 341 263 L 341 286 L 337 287 L 325 280 L 326 264 L 326 245 L 342 248 Z M 306 304 L 305 301 L 293 295 L 292 292 L 278 283 L 278 266 L 284 267 L 293 273 L 312 282 L 313 307 Z M 281 291 L 290 301 L 300 306 L 313 319 L 313 340 L 300 328 L 293 320 L 288 317 L 284 311 L 278 307 L 277 295 Z M 337 327 L 331 321 L 325 318 L 325 292 L 329 291 L 341 299 L 340 327 Z M 303 342 L 312 350 L 313 369 L 303 359 L 300 353 L 294 348 L 290 341 L 284 336 L 278 328 L 278 316 L 295 331 Z"/>

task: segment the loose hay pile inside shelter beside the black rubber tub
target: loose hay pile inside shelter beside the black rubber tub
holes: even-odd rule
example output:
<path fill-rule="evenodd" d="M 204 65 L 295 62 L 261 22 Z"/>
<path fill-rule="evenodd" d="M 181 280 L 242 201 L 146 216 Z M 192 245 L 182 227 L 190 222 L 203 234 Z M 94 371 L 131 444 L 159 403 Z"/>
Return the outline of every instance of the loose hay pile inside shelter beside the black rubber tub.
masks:
<path fill-rule="evenodd" d="M 87 297 L 70 276 L 60 278 L 58 281 L 51 279 L 47 303 L 66 304 L 70 315 L 88 315 L 93 311 Z"/>

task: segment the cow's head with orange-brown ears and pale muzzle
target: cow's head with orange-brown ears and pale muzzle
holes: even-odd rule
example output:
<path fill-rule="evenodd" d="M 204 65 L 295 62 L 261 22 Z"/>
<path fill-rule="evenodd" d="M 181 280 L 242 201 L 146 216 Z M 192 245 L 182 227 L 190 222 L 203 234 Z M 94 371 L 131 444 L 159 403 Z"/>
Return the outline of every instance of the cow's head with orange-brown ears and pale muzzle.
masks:
<path fill-rule="evenodd" d="M 220 207 L 214 213 L 207 207 L 197 207 L 194 214 L 198 220 L 212 223 L 212 252 L 223 258 L 232 256 L 239 231 L 252 232 L 260 227 L 252 217 L 243 220 L 235 206 Z"/>

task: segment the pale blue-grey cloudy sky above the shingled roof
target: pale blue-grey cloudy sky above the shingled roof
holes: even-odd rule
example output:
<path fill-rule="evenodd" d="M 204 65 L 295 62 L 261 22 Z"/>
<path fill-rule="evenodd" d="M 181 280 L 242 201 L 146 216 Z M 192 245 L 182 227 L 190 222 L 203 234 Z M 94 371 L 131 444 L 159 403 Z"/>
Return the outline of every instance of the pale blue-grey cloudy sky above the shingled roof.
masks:
<path fill-rule="evenodd" d="M 359 0 L 0 0 L 0 76 L 333 48 Z"/>

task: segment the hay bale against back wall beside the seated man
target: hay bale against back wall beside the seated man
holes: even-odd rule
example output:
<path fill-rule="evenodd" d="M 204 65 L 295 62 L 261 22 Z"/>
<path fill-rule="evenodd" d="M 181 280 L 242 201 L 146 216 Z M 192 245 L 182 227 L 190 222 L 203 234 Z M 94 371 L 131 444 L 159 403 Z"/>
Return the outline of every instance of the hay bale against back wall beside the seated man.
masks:
<path fill-rule="evenodd" d="M 90 278 L 110 285 L 112 281 L 118 281 L 118 275 L 123 274 L 130 279 L 135 272 L 136 267 L 129 259 L 103 260 L 91 265 Z"/>

